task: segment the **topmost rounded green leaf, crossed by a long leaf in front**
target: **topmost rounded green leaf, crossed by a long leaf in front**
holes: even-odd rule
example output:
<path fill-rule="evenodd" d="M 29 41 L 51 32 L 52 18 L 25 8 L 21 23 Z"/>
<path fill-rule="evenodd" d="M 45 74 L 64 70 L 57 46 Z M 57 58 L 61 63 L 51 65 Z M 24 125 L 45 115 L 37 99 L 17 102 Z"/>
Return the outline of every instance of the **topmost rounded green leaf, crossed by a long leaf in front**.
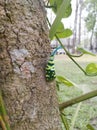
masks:
<path fill-rule="evenodd" d="M 58 10 L 60 9 L 60 6 L 62 4 L 63 0 L 50 0 L 50 5 L 53 5 L 53 12 L 57 15 Z M 71 8 L 71 4 L 69 4 L 69 6 L 66 8 L 66 10 L 64 11 L 64 16 L 63 18 L 67 18 L 71 12 L 72 12 L 72 8 Z"/>

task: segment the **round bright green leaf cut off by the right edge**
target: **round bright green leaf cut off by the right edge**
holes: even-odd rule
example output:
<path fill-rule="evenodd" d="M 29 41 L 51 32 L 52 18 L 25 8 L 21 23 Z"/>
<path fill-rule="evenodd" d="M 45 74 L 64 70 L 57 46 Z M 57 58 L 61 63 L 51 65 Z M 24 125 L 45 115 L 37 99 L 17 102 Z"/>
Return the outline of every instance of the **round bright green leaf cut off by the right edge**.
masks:
<path fill-rule="evenodd" d="M 86 67 L 86 73 L 89 75 L 97 74 L 97 64 L 96 63 L 90 63 Z"/>

